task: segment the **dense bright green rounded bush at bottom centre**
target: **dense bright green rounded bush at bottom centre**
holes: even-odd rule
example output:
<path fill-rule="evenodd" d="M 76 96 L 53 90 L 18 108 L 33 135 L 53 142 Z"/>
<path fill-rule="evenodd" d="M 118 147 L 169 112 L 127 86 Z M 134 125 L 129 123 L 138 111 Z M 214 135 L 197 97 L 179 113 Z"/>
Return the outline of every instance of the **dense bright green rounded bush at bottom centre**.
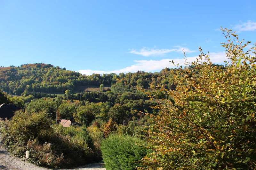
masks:
<path fill-rule="evenodd" d="M 102 141 L 101 152 L 107 170 L 130 170 L 141 165 L 147 149 L 139 138 L 112 134 Z"/>

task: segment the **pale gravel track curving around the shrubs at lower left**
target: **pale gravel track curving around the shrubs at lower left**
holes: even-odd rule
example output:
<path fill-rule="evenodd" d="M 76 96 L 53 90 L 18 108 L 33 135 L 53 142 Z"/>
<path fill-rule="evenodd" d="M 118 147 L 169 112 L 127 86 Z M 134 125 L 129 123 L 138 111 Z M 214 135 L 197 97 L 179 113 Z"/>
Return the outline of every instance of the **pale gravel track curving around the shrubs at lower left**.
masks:
<path fill-rule="evenodd" d="M 0 169 L 12 170 L 47 170 L 47 168 L 39 167 L 34 164 L 24 162 L 19 158 L 11 156 L 5 148 L 0 145 Z M 48 169 L 49 170 L 49 169 Z M 106 170 L 103 163 L 88 164 L 73 170 Z"/>

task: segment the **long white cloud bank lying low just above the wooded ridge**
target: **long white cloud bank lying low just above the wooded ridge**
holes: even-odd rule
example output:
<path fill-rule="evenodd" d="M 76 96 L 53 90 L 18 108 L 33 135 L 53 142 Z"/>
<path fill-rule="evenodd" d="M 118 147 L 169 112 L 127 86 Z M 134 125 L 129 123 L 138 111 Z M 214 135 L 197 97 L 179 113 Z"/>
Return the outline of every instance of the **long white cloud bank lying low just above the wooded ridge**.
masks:
<path fill-rule="evenodd" d="M 198 56 L 194 57 L 187 57 L 188 62 L 193 62 L 196 60 Z M 223 61 L 225 61 L 226 54 L 224 52 L 218 52 L 218 53 L 210 53 L 210 59 L 212 63 L 221 64 Z M 172 63 L 169 61 L 173 60 L 175 64 L 184 65 L 184 59 L 163 59 L 163 60 L 134 60 L 135 64 L 132 66 L 128 66 L 122 69 L 112 70 L 112 71 L 99 71 L 99 70 L 78 70 L 81 74 L 91 75 L 92 73 L 98 73 L 98 74 L 109 74 L 109 73 L 128 73 L 128 72 L 137 72 L 140 71 L 146 71 L 146 72 L 155 72 L 159 71 L 165 67 L 174 68 L 172 66 Z"/>

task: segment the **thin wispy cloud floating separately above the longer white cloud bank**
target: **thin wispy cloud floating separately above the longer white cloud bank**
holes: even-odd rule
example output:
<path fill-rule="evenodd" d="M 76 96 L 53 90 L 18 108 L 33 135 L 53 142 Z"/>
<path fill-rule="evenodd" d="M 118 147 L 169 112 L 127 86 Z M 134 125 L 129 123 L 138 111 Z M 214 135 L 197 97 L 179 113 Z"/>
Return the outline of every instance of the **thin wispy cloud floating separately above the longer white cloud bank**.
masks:
<path fill-rule="evenodd" d="M 148 56 L 162 56 L 164 54 L 171 53 L 171 52 L 193 53 L 195 51 L 190 50 L 186 47 L 182 47 L 182 46 L 174 46 L 171 49 L 155 49 L 155 48 L 143 47 L 138 51 L 135 50 L 135 49 L 132 49 L 130 51 L 130 53 L 132 53 L 132 54 L 142 55 L 142 56 L 146 56 L 146 57 L 148 57 Z"/>

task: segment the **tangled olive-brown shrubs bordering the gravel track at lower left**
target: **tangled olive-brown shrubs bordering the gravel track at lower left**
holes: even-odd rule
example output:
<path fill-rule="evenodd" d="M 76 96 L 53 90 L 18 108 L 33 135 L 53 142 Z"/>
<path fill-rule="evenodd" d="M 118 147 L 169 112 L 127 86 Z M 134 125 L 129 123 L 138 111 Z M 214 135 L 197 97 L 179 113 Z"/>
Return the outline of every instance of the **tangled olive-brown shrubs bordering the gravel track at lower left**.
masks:
<path fill-rule="evenodd" d="M 29 162 L 50 168 L 73 167 L 91 163 L 94 147 L 86 127 L 64 128 L 52 124 L 45 112 L 17 111 L 11 121 L 1 121 L 1 136 L 9 151 Z"/>

